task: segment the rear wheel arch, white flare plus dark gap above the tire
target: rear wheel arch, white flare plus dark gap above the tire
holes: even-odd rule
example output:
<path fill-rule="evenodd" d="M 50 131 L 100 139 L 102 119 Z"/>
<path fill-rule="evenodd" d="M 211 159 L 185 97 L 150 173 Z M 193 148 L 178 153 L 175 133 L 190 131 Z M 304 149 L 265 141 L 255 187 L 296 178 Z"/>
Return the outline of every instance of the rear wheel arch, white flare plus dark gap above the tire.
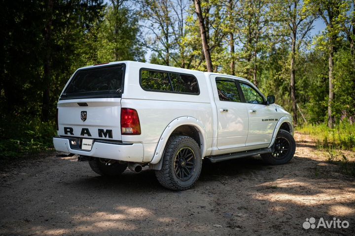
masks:
<path fill-rule="evenodd" d="M 171 135 L 187 135 L 193 138 L 200 147 L 201 156 L 206 155 L 206 131 L 202 122 L 191 116 L 183 116 L 176 118 L 165 128 L 160 136 L 157 147 L 155 148 L 154 156 L 150 164 L 158 164 L 161 160 L 165 146 Z M 159 169 L 159 167 L 157 167 Z M 154 168 L 155 169 L 155 168 Z"/>

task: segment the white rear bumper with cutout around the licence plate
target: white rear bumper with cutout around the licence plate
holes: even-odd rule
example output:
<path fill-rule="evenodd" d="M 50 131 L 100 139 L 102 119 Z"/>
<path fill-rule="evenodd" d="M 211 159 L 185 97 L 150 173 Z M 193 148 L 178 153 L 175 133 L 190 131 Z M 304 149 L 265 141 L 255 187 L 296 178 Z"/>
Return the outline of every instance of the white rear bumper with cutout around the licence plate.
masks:
<path fill-rule="evenodd" d="M 54 148 L 57 151 L 69 152 L 83 156 L 100 157 L 126 162 L 143 161 L 142 143 L 105 143 L 95 141 L 91 151 L 71 149 L 70 138 L 53 137 Z"/>

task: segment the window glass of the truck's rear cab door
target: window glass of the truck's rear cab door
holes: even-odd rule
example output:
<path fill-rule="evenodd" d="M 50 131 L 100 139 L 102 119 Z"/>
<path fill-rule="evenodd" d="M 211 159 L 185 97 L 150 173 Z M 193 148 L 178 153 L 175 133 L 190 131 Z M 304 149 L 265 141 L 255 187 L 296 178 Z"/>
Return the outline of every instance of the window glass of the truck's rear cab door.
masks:
<path fill-rule="evenodd" d="M 236 83 L 232 80 L 216 79 L 219 101 L 241 102 Z"/>

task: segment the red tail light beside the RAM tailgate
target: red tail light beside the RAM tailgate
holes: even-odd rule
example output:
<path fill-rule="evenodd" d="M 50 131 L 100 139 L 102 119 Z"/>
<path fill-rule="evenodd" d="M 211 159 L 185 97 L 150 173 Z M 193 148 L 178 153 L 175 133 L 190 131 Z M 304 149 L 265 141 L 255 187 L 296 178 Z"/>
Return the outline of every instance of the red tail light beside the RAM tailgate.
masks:
<path fill-rule="evenodd" d="M 137 110 L 131 108 L 121 108 L 121 134 L 141 134 L 141 124 L 139 121 Z"/>

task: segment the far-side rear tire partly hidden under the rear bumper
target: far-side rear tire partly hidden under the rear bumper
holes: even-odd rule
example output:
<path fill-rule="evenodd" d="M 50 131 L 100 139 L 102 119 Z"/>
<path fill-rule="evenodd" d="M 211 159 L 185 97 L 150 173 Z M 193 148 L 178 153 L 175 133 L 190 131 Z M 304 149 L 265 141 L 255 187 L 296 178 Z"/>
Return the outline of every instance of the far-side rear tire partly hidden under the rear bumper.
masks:
<path fill-rule="evenodd" d="M 127 168 L 127 163 L 119 163 L 110 159 L 94 158 L 89 161 L 89 165 L 96 173 L 104 176 L 117 176 L 120 175 Z"/>

